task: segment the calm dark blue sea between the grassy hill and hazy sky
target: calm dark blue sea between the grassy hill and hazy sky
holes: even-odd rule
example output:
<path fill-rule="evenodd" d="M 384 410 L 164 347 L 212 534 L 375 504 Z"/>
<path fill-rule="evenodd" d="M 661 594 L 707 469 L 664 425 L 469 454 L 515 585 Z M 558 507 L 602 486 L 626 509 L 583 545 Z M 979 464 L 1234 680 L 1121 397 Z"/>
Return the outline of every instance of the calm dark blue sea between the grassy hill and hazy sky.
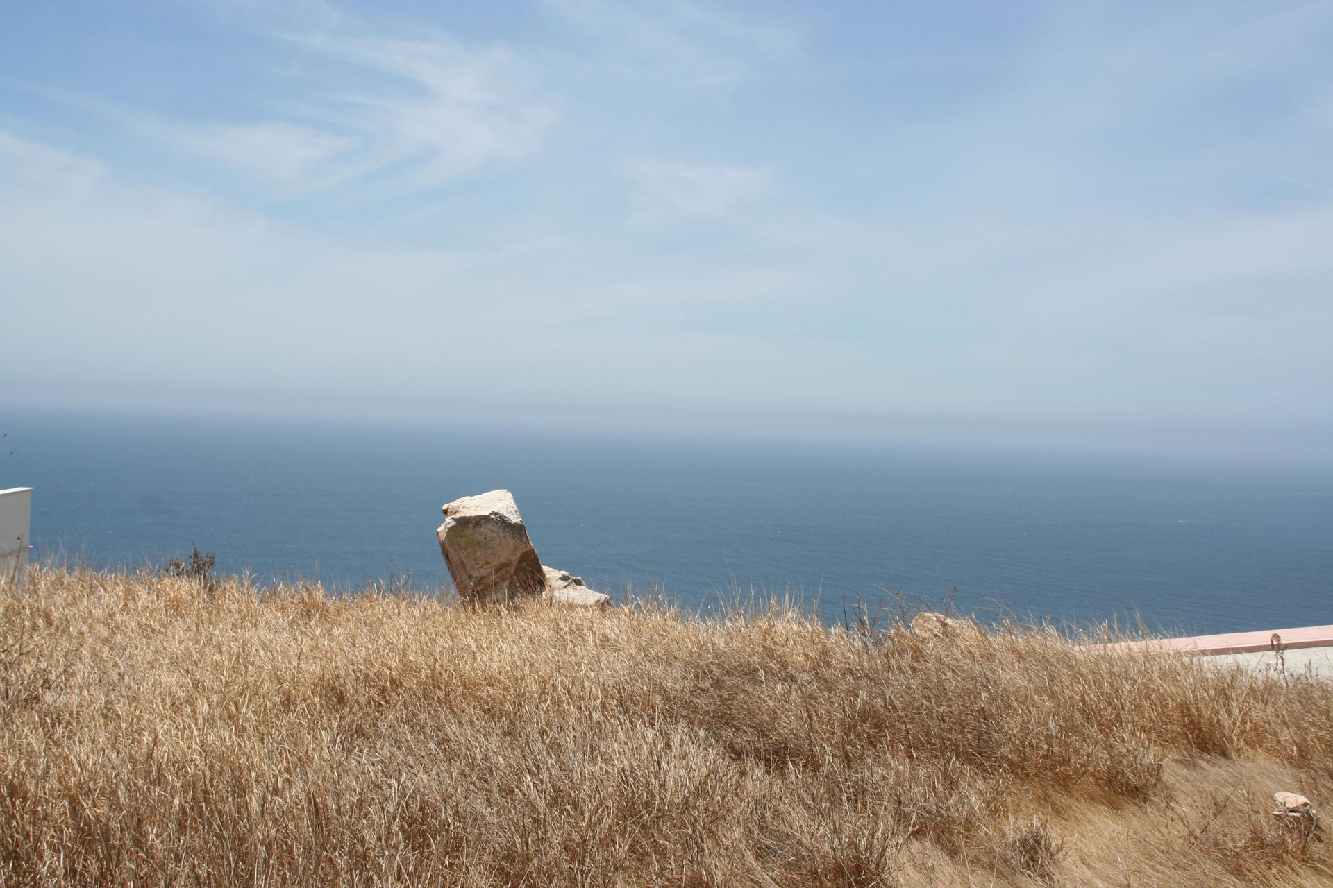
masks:
<path fill-rule="evenodd" d="M 513 490 L 543 560 L 688 606 L 800 592 L 830 620 L 901 591 L 1169 631 L 1333 623 L 1326 469 L 969 458 L 812 445 L 7 413 L 0 487 L 39 555 L 337 587 L 448 582 L 440 506 Z"/>

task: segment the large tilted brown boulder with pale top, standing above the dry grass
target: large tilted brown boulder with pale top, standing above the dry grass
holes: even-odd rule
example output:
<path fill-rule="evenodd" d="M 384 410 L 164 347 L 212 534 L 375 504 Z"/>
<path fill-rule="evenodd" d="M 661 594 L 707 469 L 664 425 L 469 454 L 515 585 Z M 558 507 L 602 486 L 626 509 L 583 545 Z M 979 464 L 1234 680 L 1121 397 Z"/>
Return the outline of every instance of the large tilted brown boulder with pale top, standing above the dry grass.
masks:
<path fill-rule="evenodd" d="M 445 503 L 444 523 L 436 533 L 460 599 L 509 602 L 537 598 L 545 590 L 541 559 L 508 490 Z"/>

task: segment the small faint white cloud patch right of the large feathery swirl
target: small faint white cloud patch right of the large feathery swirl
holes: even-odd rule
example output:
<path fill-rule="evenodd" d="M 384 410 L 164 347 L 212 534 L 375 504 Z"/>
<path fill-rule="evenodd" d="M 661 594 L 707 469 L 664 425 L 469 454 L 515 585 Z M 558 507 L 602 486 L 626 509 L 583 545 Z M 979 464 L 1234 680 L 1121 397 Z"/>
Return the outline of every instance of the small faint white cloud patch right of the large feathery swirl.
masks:
<path fill-rule="evenodd" d="M 631 197 L 651 214 L 717 218 L 764 197 L 772 185 L 772 174 L 753 166 L 631 157 L 623 169 Z"/>

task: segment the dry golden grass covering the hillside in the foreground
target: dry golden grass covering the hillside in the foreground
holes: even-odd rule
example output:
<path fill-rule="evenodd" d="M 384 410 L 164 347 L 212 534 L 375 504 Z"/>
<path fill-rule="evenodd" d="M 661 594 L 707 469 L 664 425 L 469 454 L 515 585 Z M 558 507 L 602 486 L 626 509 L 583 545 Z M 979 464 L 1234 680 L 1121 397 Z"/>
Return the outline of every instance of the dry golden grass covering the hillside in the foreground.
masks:
<path fill-rule="evenodd" d="M 1333 688 L 1053 634 L 0 590 L 5 885 L 1333 884 Z"/>

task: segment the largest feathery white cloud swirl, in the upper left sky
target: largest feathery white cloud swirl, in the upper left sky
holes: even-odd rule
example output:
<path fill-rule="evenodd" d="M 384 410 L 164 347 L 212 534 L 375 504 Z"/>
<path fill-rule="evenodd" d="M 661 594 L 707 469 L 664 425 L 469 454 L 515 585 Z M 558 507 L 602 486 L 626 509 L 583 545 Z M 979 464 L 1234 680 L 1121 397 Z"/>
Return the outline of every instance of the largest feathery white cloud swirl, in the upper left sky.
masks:
<path fill-rule="evenodd" d="M 320 1 L 213 5 L 303 63 L 287 67 L 280 88 L 249 112 L 165 117 L 95 97 L 61 99 L 279 193 L 341 188 L 344 197 L 429 189 L 521 161 L 540 150 L 559 117 L 536 73 L 504 45 L 436 29 L 400 36 L 404 27 Z"/>

